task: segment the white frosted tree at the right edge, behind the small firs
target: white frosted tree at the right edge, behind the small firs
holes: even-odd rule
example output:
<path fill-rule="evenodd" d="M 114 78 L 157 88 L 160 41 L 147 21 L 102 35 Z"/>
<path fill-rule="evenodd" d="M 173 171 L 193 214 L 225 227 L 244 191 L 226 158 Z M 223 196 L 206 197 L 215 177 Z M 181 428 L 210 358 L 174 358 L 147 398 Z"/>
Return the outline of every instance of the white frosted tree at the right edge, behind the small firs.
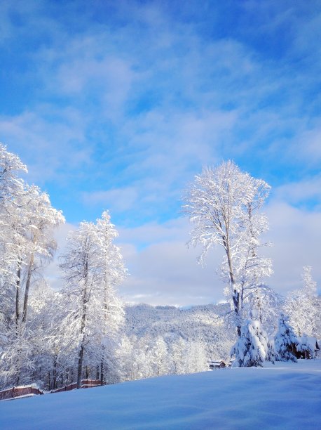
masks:
<path fill-rule="evenodd" d="M 315 337 L 317 332 L 317 284 L 312 278 L 311 270 L 310 266 L 303 267 L 303 287 L 289 293 L 285 302 L 285 312 L 299 337 Z"/>

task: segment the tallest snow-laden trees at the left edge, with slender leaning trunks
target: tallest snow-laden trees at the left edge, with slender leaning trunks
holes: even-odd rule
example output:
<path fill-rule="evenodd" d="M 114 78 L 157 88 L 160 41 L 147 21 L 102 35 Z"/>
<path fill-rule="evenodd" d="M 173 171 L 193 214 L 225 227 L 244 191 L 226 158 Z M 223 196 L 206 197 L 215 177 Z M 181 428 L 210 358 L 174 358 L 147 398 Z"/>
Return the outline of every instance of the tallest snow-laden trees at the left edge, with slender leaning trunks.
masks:
<path fill-rule="evenodd" d="M 53 230 L 64 222 L 46 193 L 18 175 L 20 159 L 0 145 L 0 383 L 20 384 L 34 372 L 29 297 L 53 258 Z"/>

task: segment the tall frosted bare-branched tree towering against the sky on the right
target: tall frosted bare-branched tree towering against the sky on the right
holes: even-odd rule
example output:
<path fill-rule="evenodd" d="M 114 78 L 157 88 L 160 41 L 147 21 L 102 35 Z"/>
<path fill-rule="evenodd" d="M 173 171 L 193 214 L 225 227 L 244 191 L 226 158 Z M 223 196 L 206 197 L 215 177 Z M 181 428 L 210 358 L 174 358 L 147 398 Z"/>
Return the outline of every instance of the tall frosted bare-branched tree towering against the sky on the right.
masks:
<path fill-rule="evenodd" d="M 270 186 L 252 178 L 231 161 L 207 167 L 195 177 L 185 197 L 184 212 L 195 227 L 189 244 L 201 245 L 203 263 L 208 250 L 224 249 L 222 278 L 228 285 L 238 336 L 241 335 L 243 302 L 264 289 L 263 278 L 272 273 L 271 261 L 259 256 L 260 236 L 268 229 L 261 209 Z"/>

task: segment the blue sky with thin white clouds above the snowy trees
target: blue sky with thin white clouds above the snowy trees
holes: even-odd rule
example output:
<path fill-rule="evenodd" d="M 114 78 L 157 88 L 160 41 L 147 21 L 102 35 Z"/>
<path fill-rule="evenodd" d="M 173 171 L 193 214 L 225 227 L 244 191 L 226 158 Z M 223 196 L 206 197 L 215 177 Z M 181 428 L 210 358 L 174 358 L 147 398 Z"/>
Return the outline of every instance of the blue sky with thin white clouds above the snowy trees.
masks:
<path fill-rule="evenodd" d="M 69 224 L 110 209 L 132 301 L 219 299 L 179 207 L 227 158 L 273 187 L 273 286 L 320 285 L 320 39 L 313 0 L 3 0 L 0 140 Z"/>

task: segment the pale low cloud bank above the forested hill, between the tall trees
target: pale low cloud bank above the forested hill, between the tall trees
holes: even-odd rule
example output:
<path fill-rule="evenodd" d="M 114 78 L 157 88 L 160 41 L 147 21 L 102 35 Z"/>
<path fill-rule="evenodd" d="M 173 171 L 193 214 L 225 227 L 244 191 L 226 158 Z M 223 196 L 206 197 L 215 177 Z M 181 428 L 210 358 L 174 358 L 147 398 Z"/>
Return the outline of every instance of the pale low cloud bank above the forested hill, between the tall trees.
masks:
<path fill-rule="evenodd" d="M 137 302 L 140 294 L 139 301 L 153 305 L 218 301 L 223 294 L 215 275 L 216 264 L 202 268 L 196 262 L 197 255 L 196 250 L 186 249 L 184 242 L 175 240 L 150 245 L 127 259 L 125 254 L 130 275 L 120 292 L 126 301 Z"/>

